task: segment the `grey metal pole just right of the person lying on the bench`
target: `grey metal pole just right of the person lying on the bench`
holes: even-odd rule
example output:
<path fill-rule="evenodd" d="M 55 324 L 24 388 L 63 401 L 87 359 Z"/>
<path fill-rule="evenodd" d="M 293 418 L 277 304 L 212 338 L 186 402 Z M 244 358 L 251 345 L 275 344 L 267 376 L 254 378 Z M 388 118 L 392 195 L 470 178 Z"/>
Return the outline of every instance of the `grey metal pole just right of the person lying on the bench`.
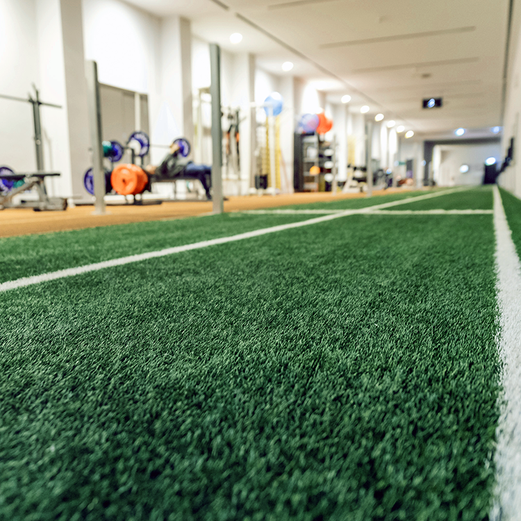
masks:
<path fill-rule="evenodd" d="M 210 44 L 210 94 L 212 96 L 212 210 L 224 212 L 222 199 L 221 49 Z"/>

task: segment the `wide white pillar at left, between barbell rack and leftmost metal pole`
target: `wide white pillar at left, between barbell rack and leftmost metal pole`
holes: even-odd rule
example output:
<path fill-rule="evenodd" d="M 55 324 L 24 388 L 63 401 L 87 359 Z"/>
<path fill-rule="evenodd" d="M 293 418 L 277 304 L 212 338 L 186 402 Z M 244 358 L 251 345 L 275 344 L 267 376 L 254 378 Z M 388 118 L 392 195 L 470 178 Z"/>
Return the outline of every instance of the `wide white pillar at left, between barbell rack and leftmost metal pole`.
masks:
<path fill-rule="evenodd" d="M 37 0 L 36 16 L 40 97 L 63 106 L 42 107 L 45 168 L 62 174 L 47 186 L 51 195 L 84 199 L 91 158 L 81 0 Z"/>

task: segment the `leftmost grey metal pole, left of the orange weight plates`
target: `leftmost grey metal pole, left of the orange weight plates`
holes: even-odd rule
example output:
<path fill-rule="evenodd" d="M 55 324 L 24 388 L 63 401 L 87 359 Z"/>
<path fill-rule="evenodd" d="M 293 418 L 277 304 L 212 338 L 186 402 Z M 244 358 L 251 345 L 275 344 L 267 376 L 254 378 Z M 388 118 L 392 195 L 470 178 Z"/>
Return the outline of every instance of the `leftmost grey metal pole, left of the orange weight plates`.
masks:
<path fill-rule="evenodd" d="M 105 211 L 105 169 L 103 166 L 103 138 L 101 137 L 101 104 L 99 97 L 98 66 L 94 61 L 85 63 L 87 79 L 90 141 L 92 144 L 92 177 L 94 178 L 94 215 L 104 215 Z"/>

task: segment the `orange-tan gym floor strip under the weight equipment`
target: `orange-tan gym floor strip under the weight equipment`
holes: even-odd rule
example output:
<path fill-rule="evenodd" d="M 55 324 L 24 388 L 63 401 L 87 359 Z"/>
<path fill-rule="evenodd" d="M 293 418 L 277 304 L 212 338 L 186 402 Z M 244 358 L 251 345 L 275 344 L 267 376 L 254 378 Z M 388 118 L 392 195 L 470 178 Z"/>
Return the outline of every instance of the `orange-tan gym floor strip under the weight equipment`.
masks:
<path fill-rule="evenodd" d="M 389 189 L 385 193 L 400 189 Z M 383 190 L 376 190 L 374 195 L 381 195 Z M 318 201 L 333 201 L 365 197 L 365 194 L 337 194 L 331 192 L 298 193 L 291 195 L 230 197 L 224 202 L 224 211 L 254 210 L 292 204 L 308 204 Z M 10 208 L 0 211 L 0 237 L 47 233 L 51 231 L 78 230 L 126 224 L 129 222 L 182 219 L 211 213 L 212 203 L 208 201 L 169 201 L 149 206 L 107 206 L 106 215 L 93 215 L 94 206 L 76 206 L 65 212 L 35 212 L 28 208 Z"/>

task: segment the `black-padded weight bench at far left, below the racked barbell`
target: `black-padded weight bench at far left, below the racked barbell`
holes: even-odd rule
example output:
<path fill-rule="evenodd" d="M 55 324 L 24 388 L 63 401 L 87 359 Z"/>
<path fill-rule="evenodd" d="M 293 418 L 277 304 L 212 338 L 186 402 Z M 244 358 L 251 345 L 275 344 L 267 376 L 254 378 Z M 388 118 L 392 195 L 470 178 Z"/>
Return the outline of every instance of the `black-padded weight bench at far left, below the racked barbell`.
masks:
<path fill-rule="evenodd" d="M 22 185 L 13 188 L 6 193 L 0 193 L 0 210 L 4 208 L 33 208 L 35 212 L 42 210 L 65 210 L 67 199 L 63 197 L 49 197 L 45 190 L 44 179 L 46 177 L 60 176 L 58 172 L 30 172 L 25 174 L 2 174 L 1 179 L 10 181 L 23 181 Z M 36 189 L 38 201 L 20 201 L 13 204 L 13 197 L 26 190 Z"/>

